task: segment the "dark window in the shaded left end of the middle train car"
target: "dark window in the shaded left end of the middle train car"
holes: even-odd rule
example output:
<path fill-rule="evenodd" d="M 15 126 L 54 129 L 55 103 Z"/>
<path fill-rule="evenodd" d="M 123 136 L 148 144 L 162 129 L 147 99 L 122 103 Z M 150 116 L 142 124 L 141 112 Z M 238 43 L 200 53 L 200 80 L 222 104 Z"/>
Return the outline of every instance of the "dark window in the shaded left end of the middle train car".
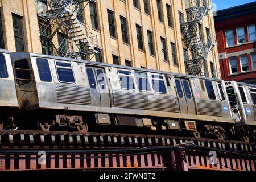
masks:
<path fill-rule="evenodd" d="M 19 86 L 28 84 L 32 81 L 30 75 L 30 66 L 28 65 L 28 61 L 26 59 L 15 61 L 14 69 L 16 75 L 16 82 Z"/>

